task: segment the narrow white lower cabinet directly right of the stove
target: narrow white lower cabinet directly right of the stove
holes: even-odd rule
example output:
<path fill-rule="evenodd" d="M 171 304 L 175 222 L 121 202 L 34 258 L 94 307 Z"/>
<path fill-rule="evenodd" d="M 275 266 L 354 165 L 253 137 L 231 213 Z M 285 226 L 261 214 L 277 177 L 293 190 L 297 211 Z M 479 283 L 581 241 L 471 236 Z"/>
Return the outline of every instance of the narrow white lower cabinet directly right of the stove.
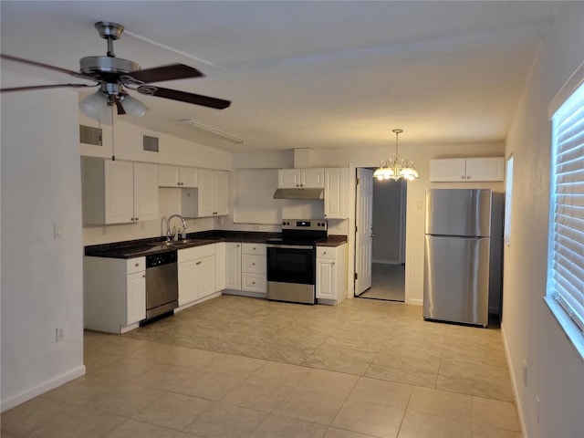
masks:
<path fill-rule="evenodd" d="M 339 304 L 347 297 L 347 244 L 317 246 L 317 299 Z"/>

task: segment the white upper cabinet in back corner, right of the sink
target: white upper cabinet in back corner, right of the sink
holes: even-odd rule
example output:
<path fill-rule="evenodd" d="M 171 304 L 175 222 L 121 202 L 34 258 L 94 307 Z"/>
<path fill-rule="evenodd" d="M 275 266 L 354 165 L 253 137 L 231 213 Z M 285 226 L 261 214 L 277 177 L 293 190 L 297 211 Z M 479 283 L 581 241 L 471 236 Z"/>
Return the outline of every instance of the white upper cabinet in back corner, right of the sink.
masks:
<path fill-rule="evenodd" d="M 229 172 L 199 170 L 197 217 L 229 214 Z"/>

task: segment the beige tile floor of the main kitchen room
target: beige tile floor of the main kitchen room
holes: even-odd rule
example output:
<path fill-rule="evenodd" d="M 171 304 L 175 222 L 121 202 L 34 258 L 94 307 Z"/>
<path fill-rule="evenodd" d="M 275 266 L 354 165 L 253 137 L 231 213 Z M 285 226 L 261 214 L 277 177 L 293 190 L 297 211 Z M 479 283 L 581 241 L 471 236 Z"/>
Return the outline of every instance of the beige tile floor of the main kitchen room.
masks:
<path fill-rule="evenodd" d="M 2 414 L 2 437 L 520 438 L 500 330 L 401 303 L 222 296 L 124 336 Z"/>

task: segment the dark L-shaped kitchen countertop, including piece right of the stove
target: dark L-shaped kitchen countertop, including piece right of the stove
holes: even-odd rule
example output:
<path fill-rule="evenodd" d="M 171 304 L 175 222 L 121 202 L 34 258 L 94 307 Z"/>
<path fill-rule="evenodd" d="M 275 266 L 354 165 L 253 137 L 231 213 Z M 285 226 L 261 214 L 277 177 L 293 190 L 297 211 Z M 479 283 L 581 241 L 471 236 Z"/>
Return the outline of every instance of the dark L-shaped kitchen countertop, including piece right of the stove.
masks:
<path fill-rule="evenodd" d="M 219 242 L 237 242 L 243 244 L 265 244 L 267 239 L 281 237 L 280 233 L 265 233 L 252 231 L 203 231 L 189 233 L 186 240 L 166 244 L 163 237 L 129 240 L 112 244 L 89 245 L 85 247 L 85 255 L 93 257 L 135 258 L 144 255 L 162 254 L 167 251 L 193 248 L 216 244 Z M 327 240 L 318 242 L 318 246 L 339 246 L 347 243 L 346 235 L 329 235 Z"/>

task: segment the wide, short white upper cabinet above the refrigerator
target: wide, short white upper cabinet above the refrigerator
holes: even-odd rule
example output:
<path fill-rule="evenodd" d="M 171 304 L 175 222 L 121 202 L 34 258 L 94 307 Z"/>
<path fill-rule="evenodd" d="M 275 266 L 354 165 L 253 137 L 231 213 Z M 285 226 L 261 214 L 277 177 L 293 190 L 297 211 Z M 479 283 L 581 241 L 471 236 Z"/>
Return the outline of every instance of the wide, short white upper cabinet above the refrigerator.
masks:
<path fill-rule="evenodd" d="M 454 158 L 430 161 L 434 183 L 488 182 L 505 179 L 505 158 Z"/>

